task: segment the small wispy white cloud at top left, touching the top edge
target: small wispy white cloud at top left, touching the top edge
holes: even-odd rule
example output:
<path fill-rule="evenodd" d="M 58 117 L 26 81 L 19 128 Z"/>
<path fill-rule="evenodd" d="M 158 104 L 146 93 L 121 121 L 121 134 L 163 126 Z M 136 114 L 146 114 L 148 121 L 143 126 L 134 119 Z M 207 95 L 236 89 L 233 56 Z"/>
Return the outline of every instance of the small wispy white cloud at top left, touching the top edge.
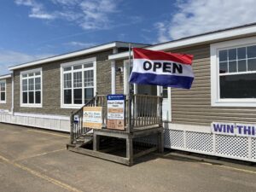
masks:
<path fill-rule="evenodd" d="M 34 0 L 15 0 L 17 5 L 24 5 L 31 8 L 31 13 L 28 15 L 32 18 L 53 20 L 55 15 L 51 15 L 44 10 L 44 5 Z"/>

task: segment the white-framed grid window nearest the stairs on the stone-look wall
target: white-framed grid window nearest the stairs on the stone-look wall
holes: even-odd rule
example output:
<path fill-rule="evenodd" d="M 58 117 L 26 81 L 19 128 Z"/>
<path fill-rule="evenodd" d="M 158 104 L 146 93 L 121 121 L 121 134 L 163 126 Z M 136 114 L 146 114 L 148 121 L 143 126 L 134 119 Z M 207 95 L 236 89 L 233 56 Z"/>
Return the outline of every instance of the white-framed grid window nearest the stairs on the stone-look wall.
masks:
<path fill-rule="evenodd" d="M 62 64 L 62 107 L 80 108 L 95 95 L 95 58 Z"/>

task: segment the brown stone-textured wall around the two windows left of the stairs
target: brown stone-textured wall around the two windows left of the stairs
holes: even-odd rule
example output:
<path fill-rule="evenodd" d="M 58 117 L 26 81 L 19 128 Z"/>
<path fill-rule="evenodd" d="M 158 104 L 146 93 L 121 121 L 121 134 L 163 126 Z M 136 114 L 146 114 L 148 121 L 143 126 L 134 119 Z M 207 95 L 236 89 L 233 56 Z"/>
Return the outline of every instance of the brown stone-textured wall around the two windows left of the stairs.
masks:
<path fill-rule="evenodd" d="M 61 108 L 61 64 L 69 61 L 79 61 L 85 58 L 96 57 L 96 90 L 99 94 L 111 92 L 111 65 L 108 55 L 112 49 L 97 54 L 83 55 L 72 59 L 49 62 L 35 67 L 26 67 L 15 70 L 15 113 L 40 113 L 55 115 L 70 115 L 77 109 Z M 42 67 L 43 77 L 43 108 L 20 107 L 20 72 Z"/>

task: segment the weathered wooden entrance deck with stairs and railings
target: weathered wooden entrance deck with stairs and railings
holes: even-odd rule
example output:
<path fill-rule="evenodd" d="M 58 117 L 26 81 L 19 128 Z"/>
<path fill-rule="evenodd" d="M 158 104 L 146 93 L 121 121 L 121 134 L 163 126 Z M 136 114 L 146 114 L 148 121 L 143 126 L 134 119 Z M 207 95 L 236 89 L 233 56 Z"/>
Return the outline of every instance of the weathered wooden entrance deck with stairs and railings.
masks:
<path fill-rule="evenodd" d="M 158 150 L 163 152 L 163 128 L 161 120 L 161 104 L 160 96 L 137 96 L 133 95 L 125 100 L 125 130 L 110 130 L 108 127 L 102 129 L 91 130 L 90 127 L 83 127 L 83 109 L 79 109 L 71 115 L 71 142 L 67 144 L 67 149 L 80 154 L 87 154 L 104 160 L 111 160 L 127 166 L 133 165 L 134 159 L 142 155 Z M 96 96 L 86 106 L 101 106 L 103 108 L 103 119 L 107 125 L 107 99 L 106 96 Z M 79 123 L 73 123 L 73 116 L 79 115 Z M 90 139 L 81 138 L 88 137 Z M 145 137 L 154 136 L 157 142 L 145 142 Z M 108 154 L 107 151 L 120 149 L 118 144 L 113 144 L 112 147 L 103 146 L 104 139 L 113 138 L 123 140 L 125 148 L 122 151 L 125 155 Z M 86 148 L 86 144 L 90 147 Z M 147 148 L 137 150 L 138 143 L 147 143 Z M 103 143 L 104 144 L 104 143 Z"/>

